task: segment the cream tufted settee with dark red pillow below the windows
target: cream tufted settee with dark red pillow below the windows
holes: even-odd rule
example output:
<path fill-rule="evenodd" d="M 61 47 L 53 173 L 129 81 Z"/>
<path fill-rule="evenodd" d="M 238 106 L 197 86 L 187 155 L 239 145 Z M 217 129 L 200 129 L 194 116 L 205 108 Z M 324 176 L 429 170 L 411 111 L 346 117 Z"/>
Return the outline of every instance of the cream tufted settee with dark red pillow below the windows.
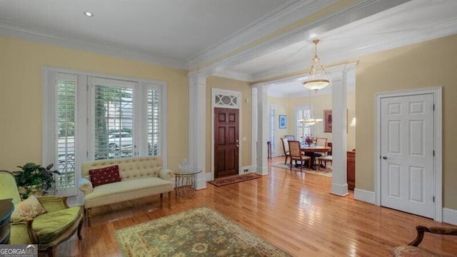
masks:
<path fill-rule="evenodd" d="M 99 185 L 100 181 L 94 180 L 96 178 L 94 172 L 112 167 L 117 171 L 116 166 L 119 167 L 117 181 L 114 178 L 114 182 Z M 160 194 L 162 205 L 163 193 L 169 194 L 169 207 L 171 205 L 174 173 L 164 168 L 164 161 L 159 156 L 86 161 L 82 163 L 81 172 L 79 190 L 84 192 L 84 211 L 89 226 L 91 226 L 91 208 L 94 207 L 157 194 Z M 111 175 L 112 173 L 108 175 L 109 179 L 113 177 Z"/>

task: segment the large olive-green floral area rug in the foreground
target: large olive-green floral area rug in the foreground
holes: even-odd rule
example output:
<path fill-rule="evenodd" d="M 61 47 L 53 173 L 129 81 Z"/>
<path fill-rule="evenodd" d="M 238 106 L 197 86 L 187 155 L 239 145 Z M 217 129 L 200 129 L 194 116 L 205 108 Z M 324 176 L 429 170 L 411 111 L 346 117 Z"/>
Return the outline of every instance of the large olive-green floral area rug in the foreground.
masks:
<path fill-rule="evenodd" d="M 115 232 L 122 256 L 291 256 L 208 207 Z"/>

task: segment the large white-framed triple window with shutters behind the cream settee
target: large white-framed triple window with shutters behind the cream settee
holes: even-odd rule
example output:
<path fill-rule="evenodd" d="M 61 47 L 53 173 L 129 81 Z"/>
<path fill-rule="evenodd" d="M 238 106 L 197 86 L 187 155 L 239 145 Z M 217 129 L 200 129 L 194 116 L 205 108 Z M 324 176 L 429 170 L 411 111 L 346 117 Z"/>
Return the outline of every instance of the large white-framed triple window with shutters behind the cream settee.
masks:
<path fill-rule="evenodd" d="M 83 161 L 137 155 L 166 160 L 166 84 L 91 75 L 44 69 L 42 161 L 60 172 L 61 196 L 76 195 Z"/>

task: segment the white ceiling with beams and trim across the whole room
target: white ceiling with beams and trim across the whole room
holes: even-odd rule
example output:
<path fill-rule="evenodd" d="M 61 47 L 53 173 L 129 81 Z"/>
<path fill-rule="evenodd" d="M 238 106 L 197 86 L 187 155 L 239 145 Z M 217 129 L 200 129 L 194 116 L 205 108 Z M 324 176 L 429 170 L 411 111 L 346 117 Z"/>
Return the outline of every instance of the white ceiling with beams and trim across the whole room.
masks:
<path fill-rule="evenodd" d="M 318 54 L 325 66 L 457 34 L 456 0 L 358 0 L 313 16 L 332 4 L 340 3 L 0 0 L 0 35 L 261 81 L 308 69 L 315 38 L 321 39 Z M 309 21 L 278 33 L 303 19 Z M 303 79 L 269 83 L 269 91 L 303 94 Z"/>

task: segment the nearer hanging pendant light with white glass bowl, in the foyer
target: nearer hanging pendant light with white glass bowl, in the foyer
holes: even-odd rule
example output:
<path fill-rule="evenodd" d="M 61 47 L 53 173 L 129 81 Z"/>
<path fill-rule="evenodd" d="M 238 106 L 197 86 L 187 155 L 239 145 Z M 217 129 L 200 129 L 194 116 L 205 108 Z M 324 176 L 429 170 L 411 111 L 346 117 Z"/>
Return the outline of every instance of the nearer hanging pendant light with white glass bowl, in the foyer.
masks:
<path fill-rule="evenodd" d="M 311 68 L 309 69 L 308 73 L 308 80 L 303 82 L 303 86 L 306 89 L 318 91 L 319 89 L 323 89 L 324 87 L 330 84 L 330 81 L 327 79 L 326 71 L 323 69 L 321 62 L 319 61 L 319 56 L 317 56 L 317 44 L 319 43 L 319 39 L 314 39 L 314 57 L 313 57 L 313 64 L 311 64 Z"/>

